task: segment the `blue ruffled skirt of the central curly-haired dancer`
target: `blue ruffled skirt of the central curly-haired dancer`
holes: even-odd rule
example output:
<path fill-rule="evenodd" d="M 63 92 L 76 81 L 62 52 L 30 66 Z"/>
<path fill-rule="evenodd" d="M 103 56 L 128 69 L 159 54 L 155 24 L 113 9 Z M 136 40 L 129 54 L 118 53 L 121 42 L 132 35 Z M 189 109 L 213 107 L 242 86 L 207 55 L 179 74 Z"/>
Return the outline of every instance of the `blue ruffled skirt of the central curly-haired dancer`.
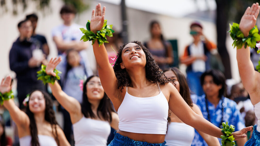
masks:
<path fill-rule="evenodd" d="M 135 141 L 133 139 L 120 135 L 119 133 L 117 133 L 117 131 L 114 132 L 114 135 L 114 139 L 108 146 L 164 146 L 166 144 L 166 141 L 164 141 L 164 143 L 148 143 Z"/>

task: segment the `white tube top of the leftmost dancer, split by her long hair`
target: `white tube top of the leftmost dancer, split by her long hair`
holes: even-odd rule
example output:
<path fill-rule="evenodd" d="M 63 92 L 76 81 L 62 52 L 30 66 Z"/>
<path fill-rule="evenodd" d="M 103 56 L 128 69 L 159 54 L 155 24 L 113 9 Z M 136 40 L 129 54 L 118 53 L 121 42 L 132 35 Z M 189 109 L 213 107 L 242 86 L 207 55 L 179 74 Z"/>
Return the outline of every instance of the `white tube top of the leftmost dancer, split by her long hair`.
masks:
<path fill-rule="evenodd" d="M 19 138 L 20 146 L 30 146 L 32 137 L 31 135 Z M 57 146 L 55 139 L 47 135 L 38 135 L 40 146 Z"/>

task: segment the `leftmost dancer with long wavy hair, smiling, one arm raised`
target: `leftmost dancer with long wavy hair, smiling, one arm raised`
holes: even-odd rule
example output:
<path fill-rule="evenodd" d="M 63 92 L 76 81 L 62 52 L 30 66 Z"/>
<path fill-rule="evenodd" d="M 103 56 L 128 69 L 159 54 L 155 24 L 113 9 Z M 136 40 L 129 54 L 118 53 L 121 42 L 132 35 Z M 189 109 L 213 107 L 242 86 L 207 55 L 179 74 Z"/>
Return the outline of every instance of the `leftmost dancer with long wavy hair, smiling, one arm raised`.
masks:
<path fill-rule="evenodd" d="M 11 77 L 2 80 L 0 92 L 11 90 Z M 59 127 L 50 96 L 40 90 L 33 90 L 27 102 L 26 113 L 13 100 L 5 100 L 4 107 L 18 128 L 20 146 L 68 146 L 70 145 Z"/>

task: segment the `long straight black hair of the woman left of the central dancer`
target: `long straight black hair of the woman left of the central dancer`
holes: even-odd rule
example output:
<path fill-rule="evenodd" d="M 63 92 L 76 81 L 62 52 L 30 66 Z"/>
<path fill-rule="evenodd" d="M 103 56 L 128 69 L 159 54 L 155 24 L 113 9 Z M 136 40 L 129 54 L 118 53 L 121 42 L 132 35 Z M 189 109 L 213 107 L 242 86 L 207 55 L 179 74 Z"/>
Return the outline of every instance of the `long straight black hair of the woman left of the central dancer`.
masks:
<path fill-rule="evenodd" d="M 91 109 L 91 103 L 88 101 L 88 96 L 87 96 L 87 88 L 86 85 L 87 83 L 91 80 L 93 77 L 99 77 L 97 75 L 93 75 L 87 78 L 87 80 L 83 84 L 83 96 L 82 96 L 82 104 L 81 104 L 81 112 L 83 113 L 84 117 L 86 118 L 96 118 L 95 114 L 93 113 Z M 112 121 L 112 112 L 113 108 L 111 105 L 111 101 L 104 92 L 103 98 L 100 100 L 99 106 L 97 108 L 97 116 L 99 118 L 103 118 L 104 120 L 111 122 Z M 99 112 L 101 115 L 99 115 Z"/>

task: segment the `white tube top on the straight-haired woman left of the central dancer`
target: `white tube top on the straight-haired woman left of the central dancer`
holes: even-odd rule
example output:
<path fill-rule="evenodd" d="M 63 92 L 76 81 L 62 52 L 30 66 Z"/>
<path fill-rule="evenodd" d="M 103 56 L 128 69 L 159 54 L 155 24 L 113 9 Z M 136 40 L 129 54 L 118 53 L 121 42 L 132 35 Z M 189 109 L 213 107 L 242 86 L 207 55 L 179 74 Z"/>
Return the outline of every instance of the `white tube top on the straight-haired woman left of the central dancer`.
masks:
<path fill-rule="evenodd" d="M 106 146 L 111 127 L 108 121 L 82 117 L 73 124 L 75 146 Z"/>

